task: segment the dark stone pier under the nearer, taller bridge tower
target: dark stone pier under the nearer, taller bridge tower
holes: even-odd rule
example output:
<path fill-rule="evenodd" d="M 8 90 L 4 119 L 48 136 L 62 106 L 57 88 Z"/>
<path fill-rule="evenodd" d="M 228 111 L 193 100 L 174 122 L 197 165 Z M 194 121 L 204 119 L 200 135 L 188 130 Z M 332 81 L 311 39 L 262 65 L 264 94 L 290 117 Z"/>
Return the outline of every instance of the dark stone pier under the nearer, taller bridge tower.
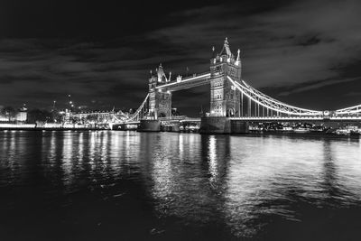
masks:
<path fill-rule="evenodd" d="M 231 120 L 224 116 L 202 117 L 199 134 L 247 134 L 248 122 Z"/>

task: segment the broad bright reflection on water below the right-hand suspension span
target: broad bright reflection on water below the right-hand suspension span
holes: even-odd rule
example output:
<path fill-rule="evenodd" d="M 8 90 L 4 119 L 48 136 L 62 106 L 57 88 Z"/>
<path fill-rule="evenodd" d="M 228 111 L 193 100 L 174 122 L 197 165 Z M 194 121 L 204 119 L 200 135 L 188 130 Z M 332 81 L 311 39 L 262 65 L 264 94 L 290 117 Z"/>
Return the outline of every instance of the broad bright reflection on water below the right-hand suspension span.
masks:
<path fill-rule="evenodd" d="M 301 221 L 295 203 L 305 201 L 327 206 L 330 199 L 346 198 L 344 186 L 356 185 L 352 184 L 350 172 L 340 174 L 333 162 L 342 162 L 349 170 L 359 170 L 356 157 L 360 150 L 356 145 L 279 136 L 232 138 L 234 158 L 226 193 L 228 225 L 237 236 L 253 236 L 266 225 L 260 219 L 270 214 Z M 333 146 L 339 149 L 338 157 L 332 151 Z M 353 153 L 348 154 L 349 149 Z M 352 194 L 355 199 L 360 198 L 360 187 Z M 335 205 L 345 204 L 343 201 L 338 200 Z"/>

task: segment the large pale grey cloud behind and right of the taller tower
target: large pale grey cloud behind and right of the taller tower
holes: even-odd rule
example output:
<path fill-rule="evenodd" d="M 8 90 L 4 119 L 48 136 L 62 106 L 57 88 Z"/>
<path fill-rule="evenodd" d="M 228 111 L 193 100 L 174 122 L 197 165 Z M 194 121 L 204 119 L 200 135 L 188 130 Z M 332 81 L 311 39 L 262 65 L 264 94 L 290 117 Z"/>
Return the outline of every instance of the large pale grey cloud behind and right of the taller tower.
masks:
<path fill-rule="evenodd" d="M 238 7 L 237 7 L 238 6 Z M 359 58 L 361 22 L 357 1 L 302 1 L 266 13 L 243 14 L 240 5 L 188 11 L 189 21 L 150 33 L 195 52 L 204 60 L 225 36 L 243 53 L 244 77 L 255 87 L 292 86 L 339 78 L 337 66 Z M 190 55 L 188 53 L 188 55 Z M 198 63 L 196 65 L 198 67 Z"/>

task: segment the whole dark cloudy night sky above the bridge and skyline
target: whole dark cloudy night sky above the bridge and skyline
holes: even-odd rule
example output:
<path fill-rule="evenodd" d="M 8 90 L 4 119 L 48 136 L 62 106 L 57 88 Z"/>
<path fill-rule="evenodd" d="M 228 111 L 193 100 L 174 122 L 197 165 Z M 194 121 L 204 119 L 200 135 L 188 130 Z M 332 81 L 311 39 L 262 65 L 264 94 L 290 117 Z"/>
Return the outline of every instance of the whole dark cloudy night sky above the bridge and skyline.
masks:
<path fill-rule="evenodd" d="M 209 70 L 241 49 L 243 79 L 299 107 L 361 103 L 361 1 L 0 2 L 0 106 L 138 107 L 149 71 Z M 208 86 L 175 92 L 195 116 Z"/>

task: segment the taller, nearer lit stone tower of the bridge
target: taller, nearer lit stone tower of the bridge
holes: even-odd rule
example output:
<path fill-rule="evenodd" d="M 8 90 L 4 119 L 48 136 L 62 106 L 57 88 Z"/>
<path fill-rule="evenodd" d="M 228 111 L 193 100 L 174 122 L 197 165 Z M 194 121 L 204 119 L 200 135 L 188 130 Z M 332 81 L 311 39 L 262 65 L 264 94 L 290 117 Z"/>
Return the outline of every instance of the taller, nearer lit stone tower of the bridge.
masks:
<path fill-rule="evenodd" d="M 241 80 L 240 51 L 237 57 L 229 49 L 226 38 L 222 51 L 215 52 L 210 59 L 210 116 L 240 116 L 240 92 L 227 79 Z"/>

